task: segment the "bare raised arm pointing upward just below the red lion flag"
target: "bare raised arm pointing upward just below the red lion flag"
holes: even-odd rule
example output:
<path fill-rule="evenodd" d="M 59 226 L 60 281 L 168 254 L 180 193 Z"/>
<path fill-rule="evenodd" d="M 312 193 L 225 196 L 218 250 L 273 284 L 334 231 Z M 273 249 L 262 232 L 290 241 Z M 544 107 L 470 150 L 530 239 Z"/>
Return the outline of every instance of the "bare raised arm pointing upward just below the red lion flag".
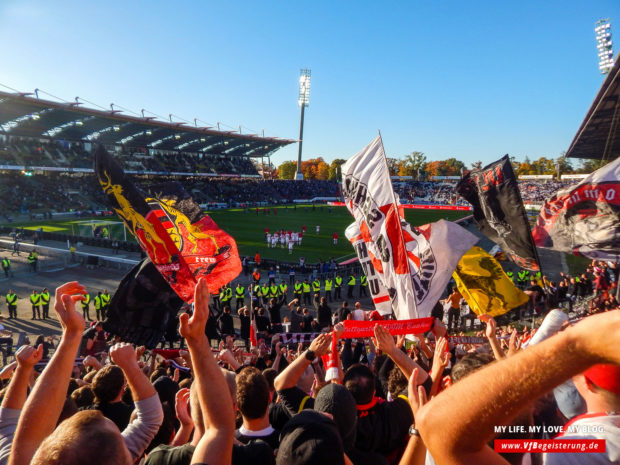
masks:
<path fill-rule="evenodd" d="M 226 380 L 205 336 L 208 317 L 209 292 L 207 281 L 201 278 L 194 291 L 194 314 L 191 318 L 187 314 L 181 315 L 179 328 L 192 356 L 200 410 L 205 425 L 208 425 L 191 463 L 227 465 L 232 461 L 235 418 Z"/>

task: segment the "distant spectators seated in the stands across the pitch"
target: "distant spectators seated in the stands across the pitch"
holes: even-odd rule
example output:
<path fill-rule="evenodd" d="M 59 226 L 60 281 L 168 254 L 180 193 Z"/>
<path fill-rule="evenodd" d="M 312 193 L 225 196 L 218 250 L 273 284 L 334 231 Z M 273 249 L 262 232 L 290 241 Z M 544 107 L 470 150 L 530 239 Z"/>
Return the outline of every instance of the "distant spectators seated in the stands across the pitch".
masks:
<path fill-rule="evenodd" d="M 0 165 L 47 166 L 54 168 L 92 168 L 94 145 L 62 140 L 37 140 L 0 136 Z M 169 153 L 146 149 L 116 147 L 115 158 L 128 171 L 140 174 L 152 172 L 182 172 L 213 175 L 254 175 L 257 167 L 246 158 L 226 158 L 197 153 Z M 97 210 L 105 205 L 92 176 L 71 179 L 57 173 L 40 174 L 26 179 L 20 175 L 0 175 L 0 195 L 9 199 L 3 205 L 6 212 L 31 212 L 40 209 L 56 211 Z M 48 179 L 45 179 L 48 178 Z M 179 178 L 185 188 L 200 203 L 238 205 L 252 203 L 285 203 L 294 199 L 338 197 L 337 183 L 307 180 L 265 181 L 260 178 Z M 162 182 L 162 177 L 141 180 L 149 184 Z M 570 182 L 520 181 L 525 203 L 541 204 L 556 190 Z M 456 182 L 396 181 L 394 189 L 403 203 L 468 205 L 455 191 Z M 50 195 L 48 195 L 50 194 Z"/>

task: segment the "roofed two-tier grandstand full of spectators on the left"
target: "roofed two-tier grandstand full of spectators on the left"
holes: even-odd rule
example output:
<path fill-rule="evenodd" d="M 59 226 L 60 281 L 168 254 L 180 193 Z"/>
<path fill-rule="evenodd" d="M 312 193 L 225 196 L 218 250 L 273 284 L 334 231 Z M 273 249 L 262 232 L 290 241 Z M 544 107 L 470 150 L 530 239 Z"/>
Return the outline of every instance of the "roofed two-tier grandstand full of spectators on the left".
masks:
<path fill-rule="evenodd" d="M 147 189 L 183 179 L 200 202 L 290 201 L 312 186 L 265 184 L 261 194 L 257 166 L 293 142 L 0 92 L 0 214 L 104 208 L 92 175 L 100 144 Z"/>

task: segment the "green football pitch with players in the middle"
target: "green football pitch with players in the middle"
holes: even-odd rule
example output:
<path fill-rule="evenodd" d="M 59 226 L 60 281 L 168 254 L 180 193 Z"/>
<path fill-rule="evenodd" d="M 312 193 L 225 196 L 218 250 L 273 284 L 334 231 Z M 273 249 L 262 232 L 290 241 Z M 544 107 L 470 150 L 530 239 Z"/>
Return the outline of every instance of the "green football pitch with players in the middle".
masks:
<path fill-rule="evenodd" d="M 274 213 L 275 210 L 275 213 Z M 232 235 L 237 241 L 239 252 L 242 255 L 254 256 L 256 252 L 263 258 L 273 258 L 281 261 L 297 261 L 299 257 L 305 257 L 308 263 L 315 263 L 319 259 L 328 260 L 344 259 L 354 256 L 354 251 L 344 235 L 344 230 L 352 223 L 353 217 L 344 207 L 329 207 L 320 205 L 269 208 L 269 214 L 262 211 L 256 214 L 255 209 L 229 209 L 213 210 L 208 212 L 218 226 Z M 406 220 L 419 226 L 431 223 L 439 219 L 455 220 L 469 215 L 469 212 L 450 210 L 405 210 Z M 75 233 L 77 223 L 84 223 L 91 218 L 79 220 L 50 220 L 28 223 L 10 223 L 12 227 L 24 227 L 25 229 L 39 229 L 58 233 Z M 92 218 L 98 224 L 103 219 Z M 118 218 L 110 218 L 110 221 L 118 222 Z M 7 226 L 9 226 L 7 225 Z M 320 226 L 320 233 L 316 233 L 316 226 Z M 295 246 L 293 253 L 288 249 L 268 248 L 265 241 L 265 228 L 270 232 L 284 229 L 301 231 L 306 226 L 306 234 L 303 236 L 301 246 Z M 332 236 L 337 232 L 340 236 L 338 245 L 333 245 Z M 130 234 L 127 233 L 128 239 Z"/>

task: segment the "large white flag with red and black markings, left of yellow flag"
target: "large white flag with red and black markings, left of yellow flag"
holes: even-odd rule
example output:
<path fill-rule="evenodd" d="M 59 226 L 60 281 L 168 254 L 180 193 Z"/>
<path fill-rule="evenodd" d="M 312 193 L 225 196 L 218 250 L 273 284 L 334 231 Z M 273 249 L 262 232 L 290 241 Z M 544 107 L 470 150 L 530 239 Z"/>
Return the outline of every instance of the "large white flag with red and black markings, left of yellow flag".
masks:
<path fill-rule="evenodd" d="M 449 221 L 404 220 L 381 136 L 342 165 L 342 191 L 397 319 L 428 317 L 476 236 Z"/>

